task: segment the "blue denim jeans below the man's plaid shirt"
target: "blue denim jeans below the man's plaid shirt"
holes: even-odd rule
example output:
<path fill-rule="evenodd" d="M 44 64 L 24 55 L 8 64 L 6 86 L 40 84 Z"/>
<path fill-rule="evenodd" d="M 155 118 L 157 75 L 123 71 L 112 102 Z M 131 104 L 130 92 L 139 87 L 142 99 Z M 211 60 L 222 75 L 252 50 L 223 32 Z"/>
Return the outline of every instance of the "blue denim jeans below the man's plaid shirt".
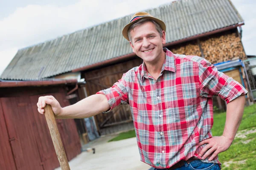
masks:
<path fill-rule="evenodd" d="M 175 170 L 220 170 L 221 168 L 219 167 L 218 164 L 215 163 L 204 163 L 200 161 L 199 159 L 190 162 L 189 164 L 186 163 L 179 168 L 176 168 Z M 167 170 L 167 169 L 157 169 L 155 168 L 154 170 Z"/>

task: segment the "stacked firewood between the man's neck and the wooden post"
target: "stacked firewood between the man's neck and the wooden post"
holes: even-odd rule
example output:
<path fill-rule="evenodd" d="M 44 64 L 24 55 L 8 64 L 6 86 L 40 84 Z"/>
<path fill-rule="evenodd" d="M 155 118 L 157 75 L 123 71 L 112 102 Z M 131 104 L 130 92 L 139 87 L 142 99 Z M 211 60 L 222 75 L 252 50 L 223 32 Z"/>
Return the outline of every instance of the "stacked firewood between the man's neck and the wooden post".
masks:
<path fill-rule="evenodd" d="M 187 44 L 184 46 L 171 48 L 170 49 L 174 54 L 185 54 L 185 55 L 193 55 L 193 56 L 200 56 L 201 51 L 198 44 Z"/>

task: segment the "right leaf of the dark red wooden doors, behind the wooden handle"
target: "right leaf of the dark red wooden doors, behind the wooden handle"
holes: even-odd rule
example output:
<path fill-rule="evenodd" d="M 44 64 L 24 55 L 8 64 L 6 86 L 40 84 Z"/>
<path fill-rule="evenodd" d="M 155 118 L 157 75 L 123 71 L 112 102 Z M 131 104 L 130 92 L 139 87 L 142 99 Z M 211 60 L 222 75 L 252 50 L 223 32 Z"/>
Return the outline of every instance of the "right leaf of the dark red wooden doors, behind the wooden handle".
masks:
<path fill-rule="evenodd" d="M 46 95 L 54 96 L 60 102 L 62 107 L 69 105 L 69 103 L 65 99 L 64 94 L 61 93 L 30 96 L 31 102 L 35 102 L 35 105 L 32 105 L 32 110 L 34 115 L 36 115 L 35 121 L 38 129 L 37 138 L 39 139 L 39 152 L 42 158 L 42 164 L 44 164 L 45 169 L 48 170 L 58 167 L 59 163 L 54 150 L 54 146 L 52 144 L 52 139 L 45 116 L 38 113 L 36 106 L 38 97 Z M 81 144 L 77 133 L 76 124 L 73 119 L 56 119 L 56 122 L 67 155 L 67 159 L 71 160 L 73 157 L 81 153 Z"/>

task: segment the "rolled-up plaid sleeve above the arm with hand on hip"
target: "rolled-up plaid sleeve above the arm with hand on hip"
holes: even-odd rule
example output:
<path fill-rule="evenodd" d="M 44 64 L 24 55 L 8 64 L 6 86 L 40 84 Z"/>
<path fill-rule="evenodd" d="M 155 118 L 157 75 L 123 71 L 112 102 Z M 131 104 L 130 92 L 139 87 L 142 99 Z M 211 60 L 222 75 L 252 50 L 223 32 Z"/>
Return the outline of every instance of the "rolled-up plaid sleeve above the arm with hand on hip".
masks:
<path fill-rule="evenodd" d="M 229 103 L 233 99 L 248 93 L 239 82 L 218 71 L 206 59 L 201 60 L 198 68 L 201 96 L 212 97 L 218 95 Z"/>

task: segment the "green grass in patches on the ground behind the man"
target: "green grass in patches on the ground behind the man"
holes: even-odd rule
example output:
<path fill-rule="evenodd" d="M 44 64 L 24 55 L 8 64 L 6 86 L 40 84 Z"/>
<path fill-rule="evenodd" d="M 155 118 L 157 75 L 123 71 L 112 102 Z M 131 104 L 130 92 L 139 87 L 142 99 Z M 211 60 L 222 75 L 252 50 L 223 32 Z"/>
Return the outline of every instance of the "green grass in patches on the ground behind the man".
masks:
<path fill-rule="evenodd" d="M 212 127 L 213 136 L 221 136 L 224 130 L 226 121 L 226 113 L 215 113 L 214 114 L 214 125 Z M 239 126 L 241 130 L 256 129 L 256 104 L 244 108 L 244 115 Z M 128 132 L 120 133 L 119 136 L 111 139 L 111 141 L 118 141 L 122 139 L 128 139 L 135 137 L 135 131 L 130 130 Z M 249 141 L 244 144 L 244 141 Z M 236 138 L 230 148 L 220 153 L 219 160 L 221 163 L 233 161 L 229 167 L 222 165 L 223 170 L 256 170 L 256 133 L 250 133 L 246 135 L 246 138 Z M 245 161 L 239 164 L 239 161 Z"/>

